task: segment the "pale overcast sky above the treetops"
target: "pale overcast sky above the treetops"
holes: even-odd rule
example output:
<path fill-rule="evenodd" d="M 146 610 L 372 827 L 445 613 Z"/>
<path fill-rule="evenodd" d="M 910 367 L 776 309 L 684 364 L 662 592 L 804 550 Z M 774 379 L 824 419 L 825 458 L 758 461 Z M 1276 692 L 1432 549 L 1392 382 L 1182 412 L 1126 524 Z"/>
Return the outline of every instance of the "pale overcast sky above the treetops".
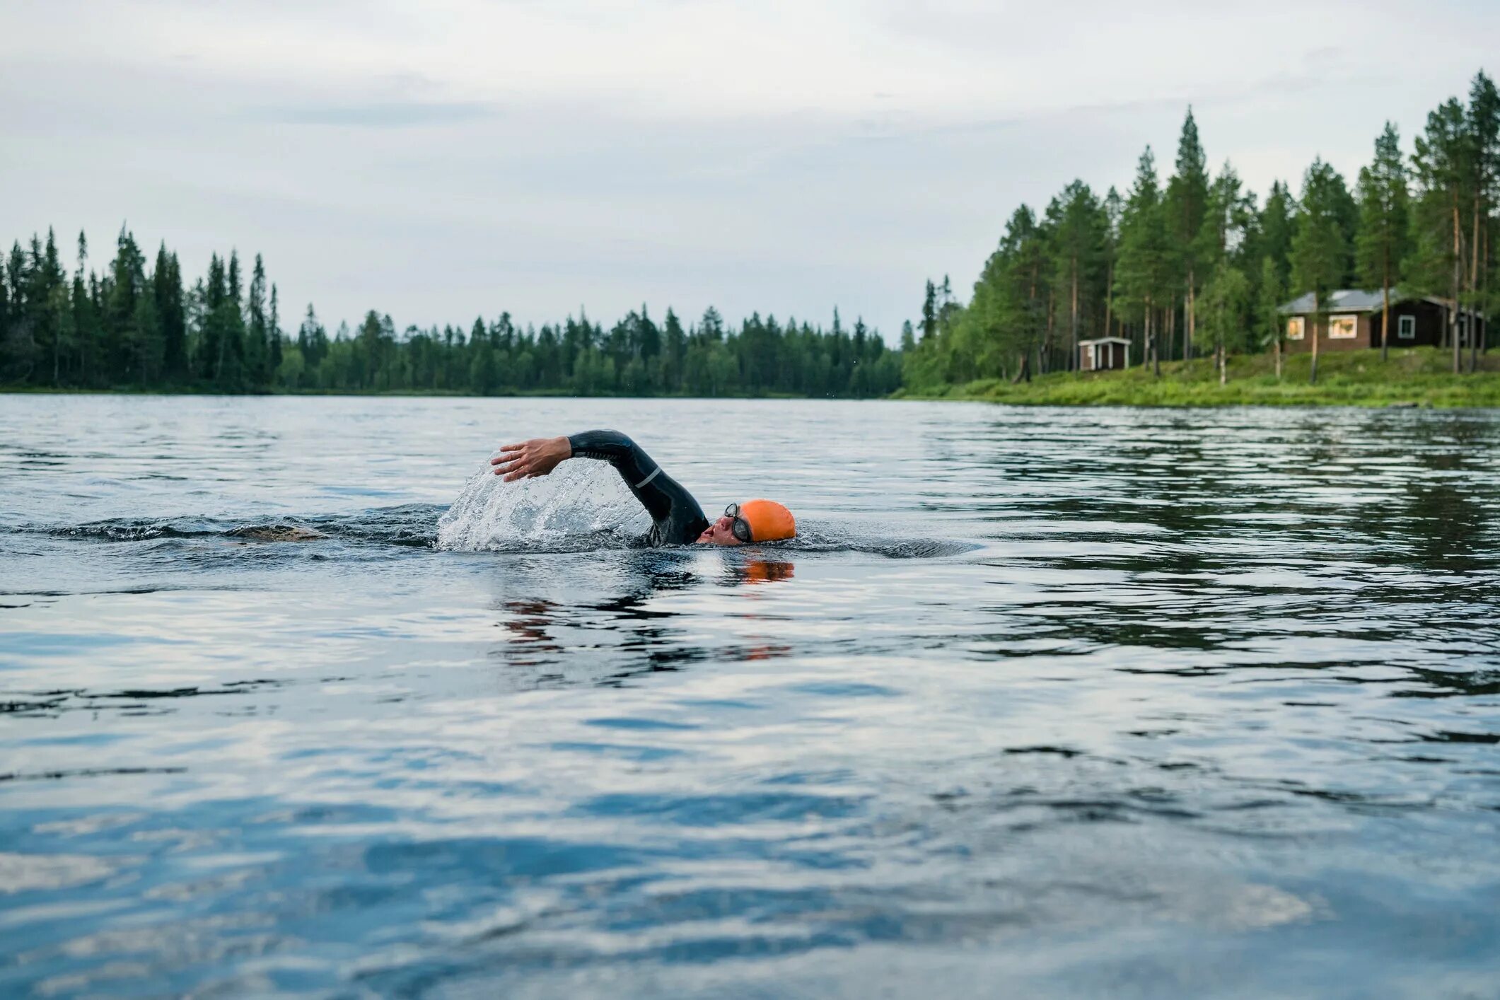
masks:
<path fill-rule="evenodd" d="M 1500 70 L 1492 0 L 0 0 L 0 240 L 264 255 L 284 327 L 714 304 L 894 340 L 1005 219 L 1170 171 L 1246 184 Z M 1486 63 L 1486 60 L 1490 60 Z"/>

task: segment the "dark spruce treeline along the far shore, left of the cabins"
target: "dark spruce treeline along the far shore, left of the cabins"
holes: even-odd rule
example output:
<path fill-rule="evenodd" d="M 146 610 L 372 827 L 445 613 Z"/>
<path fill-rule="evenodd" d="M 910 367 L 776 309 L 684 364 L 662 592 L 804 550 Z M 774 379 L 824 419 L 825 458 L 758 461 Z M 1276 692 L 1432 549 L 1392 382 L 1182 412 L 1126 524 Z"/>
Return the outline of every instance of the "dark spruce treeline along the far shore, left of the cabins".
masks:
<path fill-rule="evenodd" d="M 646 309 L 608 330 L 586 316 L 519 327 L 510 313 L 464 327 L 406 327 L 370 310 L 328 333 L 309 304 L 285 331 L 260 255 L 246 285 L 237 253 L 213 255 L 184 286 L 166 246 L 153 262 L 122 229 L 114 259 L 72 277 L 52 232 L 0 267 L 0 387 L 208 393 L 410 391 L 690 396 L 886 396 L 900 355 L 834 310 L 828 330 L 753 315 L 738 328 L 710 307 L 684 327 Z"/>

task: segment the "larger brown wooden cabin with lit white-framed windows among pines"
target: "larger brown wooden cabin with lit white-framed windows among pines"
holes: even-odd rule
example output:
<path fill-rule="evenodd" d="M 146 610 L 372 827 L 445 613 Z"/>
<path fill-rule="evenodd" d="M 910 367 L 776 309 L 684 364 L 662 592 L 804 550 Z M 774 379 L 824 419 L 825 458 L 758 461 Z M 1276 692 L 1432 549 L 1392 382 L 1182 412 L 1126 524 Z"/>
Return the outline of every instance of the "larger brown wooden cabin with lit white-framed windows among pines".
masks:
<path fill-rule="evenodd" d="M 1278 312 L 1287 318 L 1287 351 L 1311 351 L 1311 336 L 1316 330 L 1318 352 L 1358 351 L 1380 346 L 1380 322 L 1384 295 L 1377 288 L 1364 291 L 1347 288 L 1332 292 L 1323 303 L 1328 313 L 1320 321 L 1312 303 L 1312 292 L 1293 298 Z M 1448 300 L 1432 295 L 1408 295 L 1390 289 L 1390 336 L 1386 345 L 1392 348 L 1442 346 L 1443 325 L 1448 322 Z M 1484 313 L 1466 309 L 1458 316 L 1460 343 L 1468 346 L 1470 328 L 1479 337 L 1485 336 Z M 1484 339 L 1479 342 L 1484 345 Z"/>

